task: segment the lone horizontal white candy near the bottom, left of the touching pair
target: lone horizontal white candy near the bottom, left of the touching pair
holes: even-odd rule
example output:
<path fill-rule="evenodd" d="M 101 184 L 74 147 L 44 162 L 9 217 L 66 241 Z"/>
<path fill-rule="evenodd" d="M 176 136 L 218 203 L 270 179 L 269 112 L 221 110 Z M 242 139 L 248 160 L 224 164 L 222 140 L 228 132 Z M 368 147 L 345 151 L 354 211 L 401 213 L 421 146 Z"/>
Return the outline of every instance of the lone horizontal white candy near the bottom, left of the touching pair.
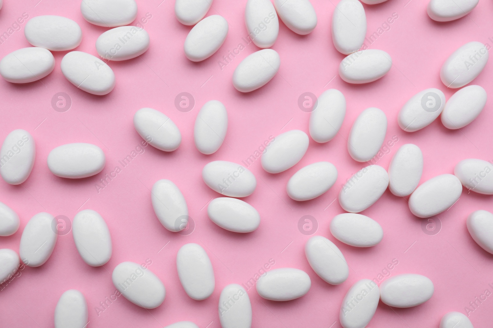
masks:
<path fill-rule="evenodd" d="M 310 276 L 295 268 L 270 270 L 255 285 L 262 298 L 281 301 L 300 298 L 308 293 L 311 286 Z"/>

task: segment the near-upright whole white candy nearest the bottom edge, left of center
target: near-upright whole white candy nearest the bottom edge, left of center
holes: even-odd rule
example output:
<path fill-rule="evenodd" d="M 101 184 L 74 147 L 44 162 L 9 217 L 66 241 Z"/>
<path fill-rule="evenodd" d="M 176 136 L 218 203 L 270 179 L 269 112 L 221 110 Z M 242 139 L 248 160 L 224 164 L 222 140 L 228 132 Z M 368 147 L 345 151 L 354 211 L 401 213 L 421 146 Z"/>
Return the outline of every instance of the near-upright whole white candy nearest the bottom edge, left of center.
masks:
<path fill-rule="evenodd" d="M 181 286 L 190 298 L 202 300 L 214 291 L 214 270 L 204 248 L 195 243 L 181 246 L 176 255 Z"/>

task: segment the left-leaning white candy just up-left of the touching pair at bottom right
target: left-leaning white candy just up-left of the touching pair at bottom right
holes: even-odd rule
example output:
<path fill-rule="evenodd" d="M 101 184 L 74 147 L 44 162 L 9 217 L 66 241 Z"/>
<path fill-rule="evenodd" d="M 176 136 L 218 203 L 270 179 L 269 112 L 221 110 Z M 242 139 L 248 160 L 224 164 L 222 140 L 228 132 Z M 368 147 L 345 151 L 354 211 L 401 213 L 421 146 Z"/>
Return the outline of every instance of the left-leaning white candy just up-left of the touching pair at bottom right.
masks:
<path fill-rule="evenodd" d="M 349 267 L 339 248 L 329 239 L 314 236 L 305 244 L 308 263 L 325 282 L 339 285 L 348 279 Z"/>

